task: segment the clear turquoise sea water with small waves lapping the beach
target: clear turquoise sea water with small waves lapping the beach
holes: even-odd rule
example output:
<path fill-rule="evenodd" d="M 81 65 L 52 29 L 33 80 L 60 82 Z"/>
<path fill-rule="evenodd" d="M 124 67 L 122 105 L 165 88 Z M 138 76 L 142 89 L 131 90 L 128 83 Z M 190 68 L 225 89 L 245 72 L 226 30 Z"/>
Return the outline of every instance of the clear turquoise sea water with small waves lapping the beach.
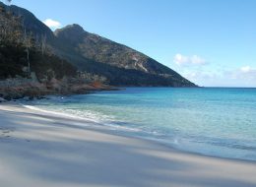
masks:
<path fill-rule="evenodd" d="M 127 88 L 26 104 L 183 151 L 256 160 L 256 89 Z"/>

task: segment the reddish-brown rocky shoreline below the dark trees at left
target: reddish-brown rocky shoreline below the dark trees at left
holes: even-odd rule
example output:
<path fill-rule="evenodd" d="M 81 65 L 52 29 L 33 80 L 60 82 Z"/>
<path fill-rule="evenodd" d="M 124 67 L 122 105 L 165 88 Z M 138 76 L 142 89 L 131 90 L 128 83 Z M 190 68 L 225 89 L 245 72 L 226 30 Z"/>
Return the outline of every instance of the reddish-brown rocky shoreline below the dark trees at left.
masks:
<path fill-rule="evenodd" d="M 99 82 L 91 84 L 80 79 L 51 79 L 49 82 L 39 83 L 31 79 L 7 79 L 0 81 L 0 102 L 19 99 L 25 96 L 39 98 L 46 94 L 88 94 L 96 91 L 115 90 Z"/>

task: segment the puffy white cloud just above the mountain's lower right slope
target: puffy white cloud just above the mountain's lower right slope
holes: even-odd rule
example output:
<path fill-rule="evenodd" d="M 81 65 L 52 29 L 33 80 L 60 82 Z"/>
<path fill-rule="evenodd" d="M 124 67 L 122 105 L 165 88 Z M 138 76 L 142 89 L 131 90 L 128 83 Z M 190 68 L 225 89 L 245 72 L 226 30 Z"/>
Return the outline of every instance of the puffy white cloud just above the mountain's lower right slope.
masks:
<path fill-rule="evenodd" d="M 181 66 L 181 65 L 189 65 L 189 64 L 192 64 L 192 65 L 203 65 L 206 63 L 206 60 L 201 58 L 200 56 L 198 55 L 192 55 L 192 56 L 184 56 L 182 54 L 176 54 L 174 56 L 174 59 L 173 61 Z"/>

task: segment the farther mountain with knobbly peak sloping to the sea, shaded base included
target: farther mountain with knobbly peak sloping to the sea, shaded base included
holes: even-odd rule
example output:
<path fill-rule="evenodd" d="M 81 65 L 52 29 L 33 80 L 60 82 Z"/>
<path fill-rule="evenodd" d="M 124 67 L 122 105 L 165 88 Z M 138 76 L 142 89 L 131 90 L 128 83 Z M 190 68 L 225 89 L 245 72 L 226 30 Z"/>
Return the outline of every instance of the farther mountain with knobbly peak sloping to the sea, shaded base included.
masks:
<path fill-rule="evenodd" d="M 96 72 L 110 80 L 112 85 L 193 87 L 173 70 L 156 60 L 123 44 L 84 31 L 79 25 L 70 25 L 54 31 L 67 54 L 81 59 L 73 63 L 82 70 Z M 67 57 L 68 58 L 68 57 Z"/>

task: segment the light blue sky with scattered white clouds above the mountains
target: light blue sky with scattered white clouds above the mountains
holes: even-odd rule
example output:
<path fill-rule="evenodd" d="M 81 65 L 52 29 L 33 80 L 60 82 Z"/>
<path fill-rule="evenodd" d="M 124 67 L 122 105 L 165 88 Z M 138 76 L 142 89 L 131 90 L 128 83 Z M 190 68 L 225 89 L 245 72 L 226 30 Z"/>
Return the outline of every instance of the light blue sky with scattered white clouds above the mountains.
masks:
<path fill-rule="evenodd" d="M 79 24 L 200 86 L 256 87 L 255 0 L 13 0 L 53 27 Z"/>

